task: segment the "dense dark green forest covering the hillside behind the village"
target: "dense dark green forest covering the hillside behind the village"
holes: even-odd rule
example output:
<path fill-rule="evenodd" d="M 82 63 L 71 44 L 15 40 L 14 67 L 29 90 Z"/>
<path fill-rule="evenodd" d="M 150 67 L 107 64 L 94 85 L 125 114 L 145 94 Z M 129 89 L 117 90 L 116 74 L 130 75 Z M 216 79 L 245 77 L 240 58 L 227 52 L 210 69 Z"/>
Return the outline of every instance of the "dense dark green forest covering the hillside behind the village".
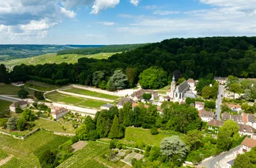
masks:
<path fill-rule="evenodd" d="M 9 77 L 11 81 L 33 79 L 58 85 L 79 83 L 97 87 L 104 81 L 103 87 L 106 88 L 106 83 L 113 82 L 111 77 L 115 76 L 117 79 L 121 77 L 123 82 L 117 83 L 117 87 L 120 84 L 127 88 L 139 80 L 151 80 L 145 77 L 150 74 L 160 81 L 159 85 L 147 86 L 150 89 L 167 85 L 172 75 L 176 80 L 181 77 L 201 79 L 228 75 L 256 77 L 255 46 L 256 37 L 174 38 L 115 54 L 108 60 L 80 58 L 74 65 L 15 66 Z M 115 71 L 118 71 L 116 75 Z"/>

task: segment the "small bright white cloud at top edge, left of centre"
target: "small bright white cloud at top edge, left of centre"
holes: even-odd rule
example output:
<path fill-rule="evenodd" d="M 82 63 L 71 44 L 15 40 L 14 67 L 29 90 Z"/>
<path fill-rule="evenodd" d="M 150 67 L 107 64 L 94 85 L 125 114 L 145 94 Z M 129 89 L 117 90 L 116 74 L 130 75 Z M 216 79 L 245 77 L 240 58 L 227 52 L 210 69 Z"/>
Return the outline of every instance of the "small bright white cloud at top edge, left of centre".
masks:
<path fill-rule="evenodd" d="M 120 3 L 120 0 L 96 0 L 92 6 L 92 14 L 98 14 L 99 11 L 114 8 Z"/>

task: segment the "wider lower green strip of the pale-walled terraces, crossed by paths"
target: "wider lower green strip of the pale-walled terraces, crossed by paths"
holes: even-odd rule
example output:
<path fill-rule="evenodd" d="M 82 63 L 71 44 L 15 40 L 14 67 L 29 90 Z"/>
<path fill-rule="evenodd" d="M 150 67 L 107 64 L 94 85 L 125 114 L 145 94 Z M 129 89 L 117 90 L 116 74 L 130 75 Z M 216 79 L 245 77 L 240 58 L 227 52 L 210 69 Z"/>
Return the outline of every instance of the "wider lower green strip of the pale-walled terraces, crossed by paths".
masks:
<path fill-rule="evenodd" d="M 81 97 L 65 95 L 62 93 L 58 93 L 57 91 L 47 93 L 45 96 L 47 99 L 51 99 L 54 102 L 67 103 L 67 104 L 70 104 L 73 106 L 79 106 L 82 108 L 100 108 L 100 106 L 106 103 L 104 101 L 97 101 L 94 99 L 85 99 Z"/>

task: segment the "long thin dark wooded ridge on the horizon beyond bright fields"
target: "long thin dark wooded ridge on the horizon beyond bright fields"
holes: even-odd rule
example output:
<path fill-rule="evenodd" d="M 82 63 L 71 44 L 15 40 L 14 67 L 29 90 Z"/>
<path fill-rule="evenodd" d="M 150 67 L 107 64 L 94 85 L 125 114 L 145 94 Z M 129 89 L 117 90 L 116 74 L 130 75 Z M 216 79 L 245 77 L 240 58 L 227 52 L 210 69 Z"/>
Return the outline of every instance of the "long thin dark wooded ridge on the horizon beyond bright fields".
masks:
<path fill-rule="evenodd" d="M 129 50 L 135 50 L 136 48 L 139 48 L 141 46 L 146 46 L 146 44 L 122 44 L 122 45 L 102 46 L 98 48 L 74 48 L 74 49 L 61 50 L 57 52 L 57 54 L 58 55 L 63 55 L 63 54 L 88 55 L 88 54 L 97 54 L 100 52 L 125 52 Z"/>

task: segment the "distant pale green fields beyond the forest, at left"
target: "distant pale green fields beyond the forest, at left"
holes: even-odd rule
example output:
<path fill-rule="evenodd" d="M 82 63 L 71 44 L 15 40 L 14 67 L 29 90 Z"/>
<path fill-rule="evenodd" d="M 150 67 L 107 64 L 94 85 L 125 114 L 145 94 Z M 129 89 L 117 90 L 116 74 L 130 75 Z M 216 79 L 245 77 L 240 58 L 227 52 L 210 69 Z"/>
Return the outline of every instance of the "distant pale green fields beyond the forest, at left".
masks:
<path fill-rule="evenodd" d="M 77 62 L 79 58 L 96 58 L 96 59 L 104 59 L 116 54 L 118 52 L 106 52 L 106 53 L 98 53 L 92 55 L 77 55 L 77 54 L 65 54 L 65 55 L 57 55 L 56 53 L 51 54 L 43 54 L 40 56 L 34 56 L 30 58 L 21 58 L 14 60 L 6 60 L 0 61 L 0 64 L 14 66 L 14 65 L 44 65 L 44 64 L 61 64 L 62 62 L 67 62 L 69 64 L 74 64 Z"/>

